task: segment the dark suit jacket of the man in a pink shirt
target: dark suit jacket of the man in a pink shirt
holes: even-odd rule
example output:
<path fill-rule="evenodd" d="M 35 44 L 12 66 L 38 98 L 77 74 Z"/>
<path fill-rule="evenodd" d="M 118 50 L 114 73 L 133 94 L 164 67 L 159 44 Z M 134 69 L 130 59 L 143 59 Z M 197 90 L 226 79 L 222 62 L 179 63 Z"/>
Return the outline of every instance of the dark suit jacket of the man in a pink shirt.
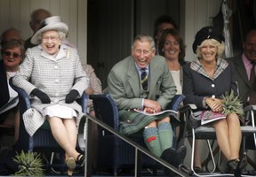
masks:
<path fill-rule="evenodd" d="M 233 58 L 227 58 L 227 61 L 232 61 L 236 72 L 235 77 L 238 83 L 239 97 L 241 98 L 243 104 L 246 104 L 250 90 L 252 89 L 250 81 L 248 79 L 246 69 L 244 67 L 244 62 L 242 60 L 242 55 Z"/>

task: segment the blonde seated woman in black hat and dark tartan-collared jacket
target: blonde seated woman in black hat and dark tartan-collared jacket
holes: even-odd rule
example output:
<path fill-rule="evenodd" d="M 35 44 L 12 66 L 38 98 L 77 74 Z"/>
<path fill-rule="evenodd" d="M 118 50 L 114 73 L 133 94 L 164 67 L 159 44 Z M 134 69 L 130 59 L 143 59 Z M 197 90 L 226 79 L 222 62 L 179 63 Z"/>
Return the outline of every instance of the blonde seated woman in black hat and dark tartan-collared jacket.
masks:
<path fill-rule="evenodd" d="M 231 90 L 237 95 L 234 66 L 221 58 L 224 49 L 224 37 L 215 32 L 213 27 L 203 27 L 197 32 L 193 43 L 197 59 L 183 66 L 184 104 L 196 104 L 201 117 L 214 117 L 217 112 L 221 113 L 222 96 Z M 223 114 L 223 117 L 207 126 L 215 128 L 220 150 L 228 159 L 226 172 L 240 176 L 246 163 L 244 159 L 239 159 L 242 141 L 239 116 L 232 112 Z"/>

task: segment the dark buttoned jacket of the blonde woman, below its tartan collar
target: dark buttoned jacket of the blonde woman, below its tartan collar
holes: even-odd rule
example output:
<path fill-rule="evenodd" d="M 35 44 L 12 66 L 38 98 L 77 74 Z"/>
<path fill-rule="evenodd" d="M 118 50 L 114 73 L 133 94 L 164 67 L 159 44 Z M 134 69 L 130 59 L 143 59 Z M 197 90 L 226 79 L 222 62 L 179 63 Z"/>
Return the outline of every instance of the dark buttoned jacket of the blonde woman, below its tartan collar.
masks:
<path fill-rule="evenodd" d="M 229 63 L 228 67 L 212 80 L 192 70 L 189 63 L 183 65 L 183 94 L 186 96 L 184 104 L 196 104 L 198 110 L 204 110 L 204 97 L 220 98 L 222 95 L 225 96 L 225 93 L 229 93 L 231 89 L 237 95 L 234 73 L 235 68 L 232 63 Z"/>

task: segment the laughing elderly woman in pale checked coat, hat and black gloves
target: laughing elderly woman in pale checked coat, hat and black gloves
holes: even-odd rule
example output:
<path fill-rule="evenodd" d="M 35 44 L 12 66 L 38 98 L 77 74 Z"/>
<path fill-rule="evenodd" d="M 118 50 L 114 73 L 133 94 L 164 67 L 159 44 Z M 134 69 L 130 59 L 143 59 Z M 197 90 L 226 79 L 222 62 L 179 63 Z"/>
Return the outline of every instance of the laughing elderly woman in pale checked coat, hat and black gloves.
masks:
<path fill-rule="evenodd" d="M 31 96 L 33 113 L 23 114 L 29 135 L 33 135 L 46 119 L 52 135 L 65 150 L 68 175 L 76 164 L 84 165 L 84 155 L 76 151 L 76 125 L 83 116 L 76 98 L 83 95 L 88 81 L 76 49 L 60 44 L 68 34 L 68 26 L 53 16 L 41 22 L 32 36 L 38 44 L 28 49 L 13 84 Z"/>

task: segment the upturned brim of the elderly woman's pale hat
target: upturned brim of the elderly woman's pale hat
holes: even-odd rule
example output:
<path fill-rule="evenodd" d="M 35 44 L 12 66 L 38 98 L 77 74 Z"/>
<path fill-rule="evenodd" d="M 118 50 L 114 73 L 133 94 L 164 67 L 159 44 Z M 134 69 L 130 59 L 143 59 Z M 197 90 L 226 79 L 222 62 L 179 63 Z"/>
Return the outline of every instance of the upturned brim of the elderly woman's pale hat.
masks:
<path fill-rule="evenodd" d="M 42 27 L 41 29 L 36 31 L 36 34 L 31 37 L 30 42 L 33 43 L 33 44 L 41 43 L 41 40 L 39 39 L 39 35 L 41 35 L 45 31 L 52 31 L 52 30 L 61 31 L 65 35 L 68 34 L 68 26 L 65 23 L 58 22 L 58 23 L 55 23 L 55 24 L 51 24 L 51 25 L 47 25 L 45 27 Z"/>

